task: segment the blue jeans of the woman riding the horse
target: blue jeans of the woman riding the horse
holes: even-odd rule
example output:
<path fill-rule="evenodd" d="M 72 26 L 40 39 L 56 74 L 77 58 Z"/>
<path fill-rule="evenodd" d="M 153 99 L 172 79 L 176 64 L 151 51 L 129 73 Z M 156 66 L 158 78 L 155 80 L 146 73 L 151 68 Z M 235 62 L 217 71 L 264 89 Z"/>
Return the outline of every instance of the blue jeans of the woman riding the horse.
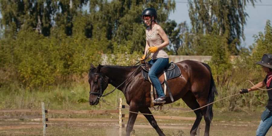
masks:
<path fill-rule="evenodd" d="M 153 65 L 148 72 L 149 79 L 151 80 L 153 86 L 155 87 L 158 97 L 159 98 L 165 97 L 160 81 L 157 78 L 157 74 L 162 72 L 164 68 L 168 66 L 169 58 L 157 58 L 156 60 L 151 59 L 148 61 L 148 63 Z"/>

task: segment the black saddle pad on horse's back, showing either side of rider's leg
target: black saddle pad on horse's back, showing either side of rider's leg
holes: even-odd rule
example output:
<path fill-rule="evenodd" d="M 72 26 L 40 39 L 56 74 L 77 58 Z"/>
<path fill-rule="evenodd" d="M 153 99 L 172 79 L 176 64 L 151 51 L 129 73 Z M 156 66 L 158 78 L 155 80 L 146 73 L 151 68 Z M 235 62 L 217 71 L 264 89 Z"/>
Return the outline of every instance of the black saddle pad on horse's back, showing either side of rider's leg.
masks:
<path fill-rule="evenodd" d="M 173 63 L 175 65 L 175 68 L 173 70 L 167 70 L 165 71 L 166 73 L 166 79 L 169 80 L 169 79 L 172 79 L 172 78 L 175 78 L 175 77 L 178 77 L 181 75 L 180 73 L 180 68 L 178 66 L 176 66 L 175 63 Z M 146 72 L 145 70 L 142 69 L 142 76 L 144 77 L 144 80 L 148 80 L 148 72 Z"/>

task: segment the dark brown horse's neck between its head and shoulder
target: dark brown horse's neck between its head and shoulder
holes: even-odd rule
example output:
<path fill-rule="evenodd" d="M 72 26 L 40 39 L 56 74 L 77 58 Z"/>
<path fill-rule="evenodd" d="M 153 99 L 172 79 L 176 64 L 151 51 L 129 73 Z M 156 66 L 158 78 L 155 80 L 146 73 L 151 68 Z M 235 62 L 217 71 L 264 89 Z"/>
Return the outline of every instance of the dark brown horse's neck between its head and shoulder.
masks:
<path fill-rule="evenodd" d="M 121 83 L 123 83 L 133 72 L 135 68 L 133 67 L 125 67 L 125 66 L 104 66 L 101 68 L 102 72 L 109 78 L 109 83 L 112 84 L 112 86 L 117 87 Z M 123 86 L 125 84 L 122 84 L 117 89 L 123 91 Z"/>

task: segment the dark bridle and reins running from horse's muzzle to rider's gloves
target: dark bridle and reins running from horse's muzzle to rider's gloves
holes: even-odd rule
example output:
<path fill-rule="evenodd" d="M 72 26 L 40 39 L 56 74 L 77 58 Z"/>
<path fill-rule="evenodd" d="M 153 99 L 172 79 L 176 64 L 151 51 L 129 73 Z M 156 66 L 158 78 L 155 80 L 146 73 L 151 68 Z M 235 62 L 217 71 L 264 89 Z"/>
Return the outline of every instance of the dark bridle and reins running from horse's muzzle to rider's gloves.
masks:
<path fill-rule="evenodd" d="M 147 52 L 146 52 L 147 53 Z M 150 55 L 151 53 L 149 53 L 148 55 L 147 55 L 147 57 L 145 57 L 144 58 L 144 60 L 142 60 L 143 62 L 142 63 L 144 63 L 144 61 L 149 57 L 149 55 Z M 138 63 L 140 63 L 140 62 L 138 62 Z M 138 63 L 136 63 L 134 66 L 136 66 Z M 123 82 L 123 83 L 125 83 L 125 82 L 127 82 L 127 80 L 138 70 L 138 68 L 139 67 L 141 67 L 141 65 L 142 65 L 142 63 L 133 71 L 133 73 L 131 73 L 131 75 L 130 76 L 128 76 L 128 78 Z M 103 76 L 102 76 L 102 74 L 101 73 L 94 73 L 95 75 L 99 75 L 99 80 L 100 80 L 100 92 L 89 92 L 89 94 L 93 94 L 93 95 L 97 95 L 98 97 L 97 97 L 97 99 L 100 99 L 100 97 L 102 97 L 102 98 L 104 98 L 105 96 L 107 96 L 107 95 L 109 95 L 110 93 L 112 93 L 113 91 L 115 91 L 118 87 L 120 87 L 123 83 L 121 83 L 119 86 L 117 86 L 117 87 L 115 87 L 115 89 L 113 89 L 111 92 L 108 92 L 107 94 L 105 94 L 105 95 L 103 95 L 102 94 L 102 84 L 103 84 L 103 82 L 102 82 L 102 80 L 106 83 L 106 81 L 105 81 L 105 79 L 103 78 Z M 104 100 L 104 99 L 103 99 Z"/>

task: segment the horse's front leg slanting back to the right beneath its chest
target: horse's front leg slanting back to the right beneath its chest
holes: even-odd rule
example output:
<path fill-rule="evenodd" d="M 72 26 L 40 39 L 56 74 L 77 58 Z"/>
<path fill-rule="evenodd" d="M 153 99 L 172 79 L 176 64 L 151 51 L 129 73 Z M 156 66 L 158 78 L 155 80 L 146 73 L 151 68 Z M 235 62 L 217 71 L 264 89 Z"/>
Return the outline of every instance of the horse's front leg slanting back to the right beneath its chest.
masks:
<path fill-rule="evenodd" d="M 149 108 L 142 108 L 140 109 L 141 113 L 147 113 L 147 114 L 152 114 L 149 110 Z M 156 129 L 157 133 L 160 136 L 165 136 L 164 133 L 161 131 L 161 129 L 159 128 L 159 126 L 157 125 L 157 121 L 155 120 L 153 115 L 144 115 L 145 118 L 149 121 L 149 123 L 152 125 L 153 128 Z"/>

